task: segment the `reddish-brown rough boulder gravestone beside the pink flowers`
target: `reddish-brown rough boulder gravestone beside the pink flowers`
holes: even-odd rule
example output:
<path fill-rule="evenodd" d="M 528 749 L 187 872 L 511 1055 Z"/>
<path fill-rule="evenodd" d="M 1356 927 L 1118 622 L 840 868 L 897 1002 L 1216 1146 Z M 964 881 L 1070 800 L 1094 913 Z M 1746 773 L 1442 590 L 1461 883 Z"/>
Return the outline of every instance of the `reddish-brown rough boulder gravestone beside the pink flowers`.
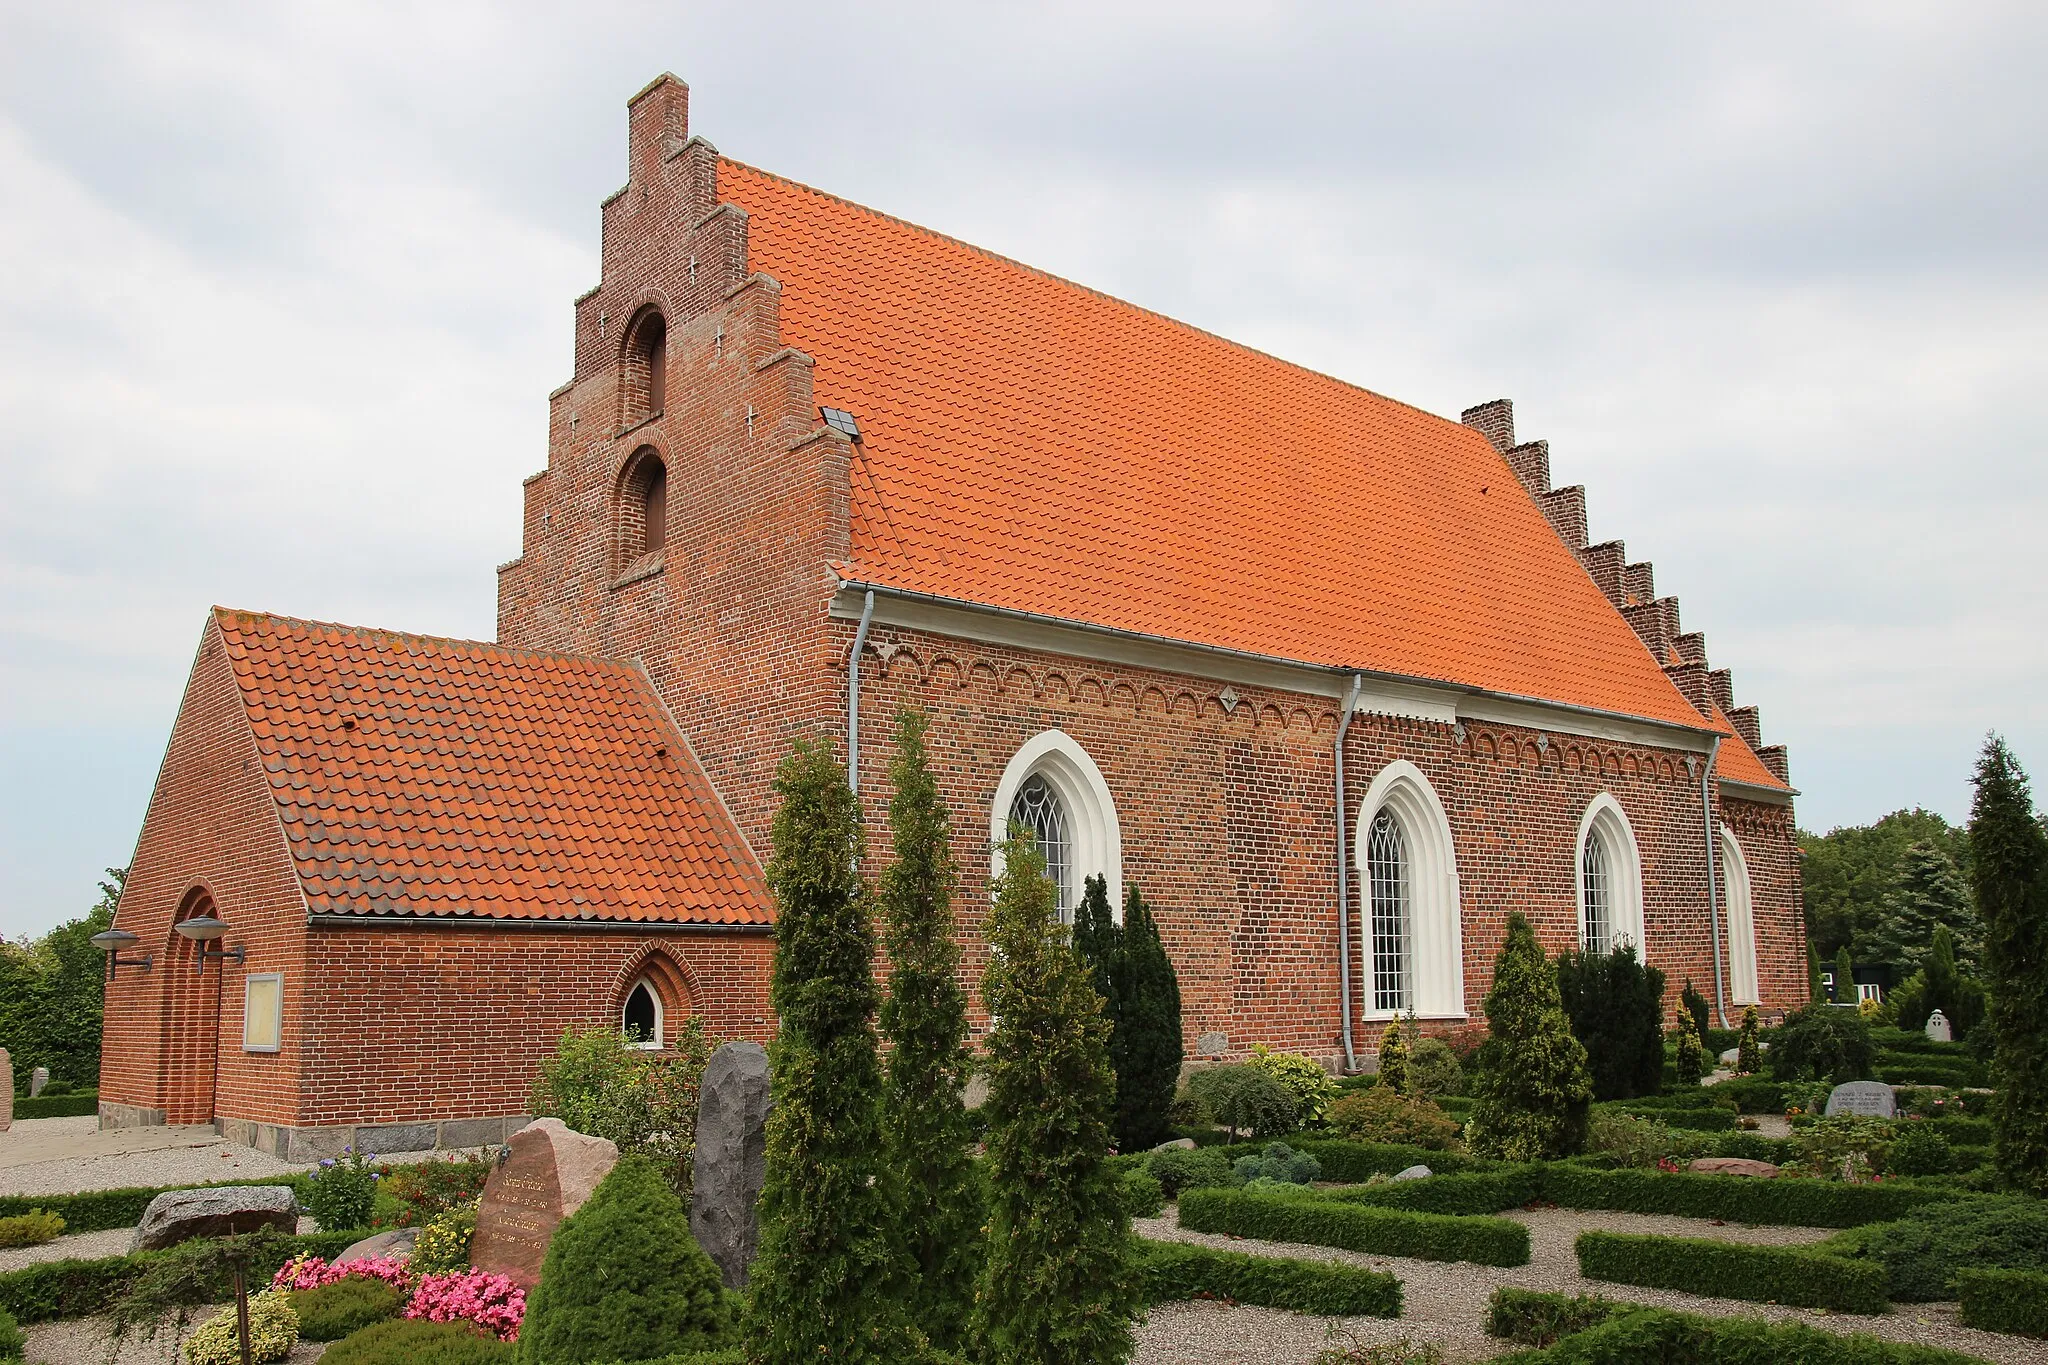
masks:
<path fill-rule="evenodd" d="M 618 1148 L 604 1138 L 584 1136 L 561 1119 L 526 1124 L 483 1181 L 469 1263 L 532 1291 L 555 1228 L 584 1207 L 616 1164 Z"/>

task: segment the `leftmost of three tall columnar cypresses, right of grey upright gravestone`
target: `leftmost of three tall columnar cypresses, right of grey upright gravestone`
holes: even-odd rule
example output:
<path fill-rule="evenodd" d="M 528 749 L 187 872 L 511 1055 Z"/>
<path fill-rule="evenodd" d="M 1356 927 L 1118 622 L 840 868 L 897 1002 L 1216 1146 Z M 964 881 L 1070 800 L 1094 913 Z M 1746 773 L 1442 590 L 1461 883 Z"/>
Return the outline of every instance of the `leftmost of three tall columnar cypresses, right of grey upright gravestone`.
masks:
<path fill-rule="evenodd" d="M 776 898 L 768 1046 L 774 1109 L 748 1328 L 768 1365 L 903 1361 L 885 1232 L 874 931 L 854 857 L 860 802 L 825 743 L 797 741 L 776 769 Z"/>

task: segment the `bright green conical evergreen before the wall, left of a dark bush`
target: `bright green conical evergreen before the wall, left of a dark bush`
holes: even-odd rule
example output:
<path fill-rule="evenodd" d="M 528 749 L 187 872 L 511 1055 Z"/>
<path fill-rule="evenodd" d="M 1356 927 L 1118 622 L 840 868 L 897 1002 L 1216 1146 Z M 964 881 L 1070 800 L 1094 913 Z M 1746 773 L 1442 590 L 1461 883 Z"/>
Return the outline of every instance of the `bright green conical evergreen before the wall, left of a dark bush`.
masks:
<path fill-rule="evenodd" d="M 1520 911 L 1493 960 L 1487 1042 L 1470 1085 L 1470 1146 L 1481 1156 L 1554 1160 L 1585 1146 L 1593 1081 L 1571 1036 L 1556 972 Z"/>

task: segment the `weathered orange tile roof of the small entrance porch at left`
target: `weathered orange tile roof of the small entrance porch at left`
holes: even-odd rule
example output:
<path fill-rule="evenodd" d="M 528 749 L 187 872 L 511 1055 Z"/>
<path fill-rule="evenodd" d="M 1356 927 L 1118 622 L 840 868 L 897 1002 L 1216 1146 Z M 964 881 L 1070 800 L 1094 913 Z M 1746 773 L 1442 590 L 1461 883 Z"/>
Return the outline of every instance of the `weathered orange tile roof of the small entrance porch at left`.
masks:
<path fill-rule="evenodd" d="M 213 618 L 315 915 L 772 921 L 635 667 Z"/>

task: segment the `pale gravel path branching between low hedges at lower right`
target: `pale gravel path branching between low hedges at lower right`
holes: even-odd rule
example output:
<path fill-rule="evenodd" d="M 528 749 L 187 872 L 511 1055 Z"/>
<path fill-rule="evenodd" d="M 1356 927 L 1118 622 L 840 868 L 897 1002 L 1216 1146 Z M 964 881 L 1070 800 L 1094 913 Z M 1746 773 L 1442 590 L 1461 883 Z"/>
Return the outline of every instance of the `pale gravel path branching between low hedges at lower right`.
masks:
<path fill-rule="evenodd" d="M 1497 1285 L 1544 1289 L 1552 1293 L 1599 1293 L 1610 1300 L 1653 1304 L 1714 1318 L 1759 1316 L 1796 1318 L 1829 1332 L 1870 1332 L 1888 1340 L 1964 1351 L 1999 1365 L 2042 1365 L 2048 1351 L 2023 1336 L 1978 1332 L 1958 1322 L 1956 1304 L 1901 1304 L 1884 1316 L 1835 1314 L 1817 1308 L 1786 1308 L 1749 1304 L 1743 1300 L 1704 1300 L 1669 1289 L 1638 1289 L 1610 1285 L 1579 1275 L 1573 1240 L 1587 1230 L 1638 1232 L 1661 1236 L 1698 1236 L 1753 1246 L 1796 1246 L 1833 1236 L 1829 1228 L 1743 1228 L 1720 1226 L 1696 1218 L 1663 1218 L 1645 1214 L 1610 1214 L 1587 1209 L 1509 1212 L 1503 1218 L 1528 1224 L 1530 1263 L 1513 1269 L 1470 1265 L 1464 1261 L 1409 1261 L 1405 1257 L 1372 1257 L 1333 1246 L 1298 1246 L 1290 1242 L 1257 1242 L 1204 1232 L 1186 1232 L 1178 1212 L 1163 1218 L 1133 1220 L 1139 1236 L 1161 1242 L 1194 1242 L 1257 1257 L 1292 1257 L 1298 1261 L 1335 1261 L 1391 1271 L 1403 1285 L 1403 1316 L 1389 1318 L 1313 1318 L 1272 1308 L 1219 1304 L 1161 1304 L 1139 1332 L 1137 1359 L 1145 1365 L 1212 1365 L 1221 1361 L 1272 1361 L 1274 1365 L 1307 1365 L 1329 1345 L 1348 1338 L 1360 1342 L 1434 1340 L 1452 1361 L 1485 1361 L 1513 1351 L 1509 1342 L 1485 1334 L 1487 1297 Z"/>

